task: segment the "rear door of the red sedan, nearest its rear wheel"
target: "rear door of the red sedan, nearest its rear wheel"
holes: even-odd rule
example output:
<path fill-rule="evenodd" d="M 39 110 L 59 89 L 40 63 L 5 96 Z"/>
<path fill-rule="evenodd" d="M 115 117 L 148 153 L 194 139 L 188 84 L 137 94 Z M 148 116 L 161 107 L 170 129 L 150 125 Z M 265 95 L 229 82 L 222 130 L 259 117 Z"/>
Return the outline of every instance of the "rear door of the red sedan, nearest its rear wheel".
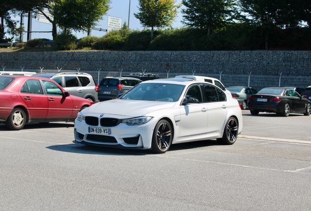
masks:
<path fill-rule="evenodd" d="M 20 96 L 26 103 L 30 119 L 44 120 L 48 112 L 47 97 L 39 80 L 29 79 L 21 88 Z"/>

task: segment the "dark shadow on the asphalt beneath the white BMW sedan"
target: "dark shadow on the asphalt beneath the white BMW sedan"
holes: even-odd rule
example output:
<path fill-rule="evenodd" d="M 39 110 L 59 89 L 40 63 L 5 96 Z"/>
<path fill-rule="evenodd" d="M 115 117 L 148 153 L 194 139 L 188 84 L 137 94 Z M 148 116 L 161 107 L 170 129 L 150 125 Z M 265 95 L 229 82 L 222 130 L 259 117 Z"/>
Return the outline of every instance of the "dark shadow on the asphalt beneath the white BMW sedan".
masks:
<path fill-rule="evenodd" d="M 196 141 L 181 144 L 174 144 L 170 147 L 170 151 L 187 150 L 187 149 L 200 149 L 209 146 L 221 145 L 217 140 Z M 93 147 L 82 144 L 65 144 L 53 145 L 46 147 L 51 150 L 80 153 L 80 154 L 102 154 L 102 155 L 152 155 L 155 154 L 152 150 L 139 150 L 139 149 L 123 149 L 123 148 L 107 148 L 107 147 Z M 166 153 L 168 153 L 166 152 Z"/>

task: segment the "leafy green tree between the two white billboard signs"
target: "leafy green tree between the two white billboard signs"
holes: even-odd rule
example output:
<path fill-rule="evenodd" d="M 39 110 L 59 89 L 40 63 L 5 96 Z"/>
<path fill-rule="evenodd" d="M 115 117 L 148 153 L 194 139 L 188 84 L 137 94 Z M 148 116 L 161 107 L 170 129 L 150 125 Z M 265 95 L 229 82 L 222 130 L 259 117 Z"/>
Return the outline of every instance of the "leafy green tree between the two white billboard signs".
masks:
<path fill-rule="evenodd" d="M 103 20 L 102 16 L 110 9 L 110 0 L 54 0 L 52 14 L 59 26 L 75 31 L 88 31 Z"/>

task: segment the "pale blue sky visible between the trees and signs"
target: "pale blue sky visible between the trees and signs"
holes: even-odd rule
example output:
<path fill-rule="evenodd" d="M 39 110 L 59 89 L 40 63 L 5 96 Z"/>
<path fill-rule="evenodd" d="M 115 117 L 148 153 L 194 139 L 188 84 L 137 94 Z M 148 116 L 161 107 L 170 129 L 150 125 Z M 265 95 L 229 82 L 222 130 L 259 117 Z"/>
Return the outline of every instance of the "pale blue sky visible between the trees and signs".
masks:
<path fill-rule="evenodd" d="M 130 6 L 131 1 L 131 7 Z M 176 3 L 181 3 L 181 0 L 177 0 Z M 117 17 L 122 19 L 122 24 L 126 22 L 127 24 L 130 22 L 130 29 L 138 29 L 142 30 L 143 27 L 141 26 L 138 19 L 134 17 L 134 13 L 139 12 L 138 8 L 138 0 L 111 0 L 110 7 L 111 9 L 108 10 L 107 15 L 103 16 L 103 20 L 100 20 L 97 24 L 97 28 L 107 29 L 108 23 L 108 16 Z M 130 8 L 130 21 L 129 21 L 129 8 Z M 15 20 L 20 21 L 20 17 L 16 17 Z M 178 10 L 178 17 L 176 18 L 175 22 L 173 23 L 174 28 L 180 28 L 182 23 L 182 16 L 180 13 L 180 8 Z M 24 18 L 24 27 L 25 31 L 27 31 L 27 21 L 28 18 Z M 19 24 L 18 24 L 19 26 Z M 38 22 L 35 19 L 32 19 L 32 31 L 52 31 L 52 24 Z M 59 30 L 58 30 L 59 31 Z M 78 39 L 86 37 L 88 34 L 87 32 L 72 32 Z M 92 30 L 91 36 L 102 37 L 106 34 L 103 31 Z M 46 38 L 52 40 L 52 33 L 31 33 L 31 39 L 36 38 Z M 26 42 L 27 34 L 23 35 L 23 42 Z"/>

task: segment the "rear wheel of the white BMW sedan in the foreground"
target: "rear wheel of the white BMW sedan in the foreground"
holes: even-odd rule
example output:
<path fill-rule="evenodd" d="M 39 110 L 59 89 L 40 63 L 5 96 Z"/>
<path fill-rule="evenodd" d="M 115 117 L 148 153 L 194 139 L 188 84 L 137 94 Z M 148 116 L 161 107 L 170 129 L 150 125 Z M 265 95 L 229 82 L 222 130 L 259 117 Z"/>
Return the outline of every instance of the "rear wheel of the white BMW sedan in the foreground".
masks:
<path fill-rule="evenodd" d="M 233 145 L 238 138 L 239 124 L 236 118 L 230 117 L 226 122 L 222 138 L 217 139 L 221 144 Z"/>

